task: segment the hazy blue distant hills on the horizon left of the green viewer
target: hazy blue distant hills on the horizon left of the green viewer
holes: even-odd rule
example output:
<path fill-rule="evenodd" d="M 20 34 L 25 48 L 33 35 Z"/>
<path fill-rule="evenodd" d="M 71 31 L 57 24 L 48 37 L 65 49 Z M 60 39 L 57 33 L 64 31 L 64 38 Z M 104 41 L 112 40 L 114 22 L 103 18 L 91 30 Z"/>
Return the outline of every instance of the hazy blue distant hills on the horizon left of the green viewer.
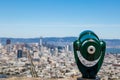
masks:
<path fill-rule="evenodd" d="M 0 38 L 2 44 L 6 43 L 6 40 L 10 39 L 14 43 L 38 43 L 40 38 Z M 43 42 L 73 42 L 77 37 L 45 37 L 42 38 Z"/>

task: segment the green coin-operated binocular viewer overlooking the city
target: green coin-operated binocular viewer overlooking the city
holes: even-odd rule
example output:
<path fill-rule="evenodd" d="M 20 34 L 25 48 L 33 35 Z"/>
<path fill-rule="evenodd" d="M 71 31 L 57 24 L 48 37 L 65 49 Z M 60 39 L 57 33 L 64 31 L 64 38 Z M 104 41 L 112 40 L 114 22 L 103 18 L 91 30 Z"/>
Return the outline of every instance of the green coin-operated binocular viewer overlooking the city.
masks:
<path fill-rule="evenodd" d="M 74 57 L 83 79 L 95 79 L 103 63 L 106 44 L 92 31 L 84 31 L 73 44 Z"/>

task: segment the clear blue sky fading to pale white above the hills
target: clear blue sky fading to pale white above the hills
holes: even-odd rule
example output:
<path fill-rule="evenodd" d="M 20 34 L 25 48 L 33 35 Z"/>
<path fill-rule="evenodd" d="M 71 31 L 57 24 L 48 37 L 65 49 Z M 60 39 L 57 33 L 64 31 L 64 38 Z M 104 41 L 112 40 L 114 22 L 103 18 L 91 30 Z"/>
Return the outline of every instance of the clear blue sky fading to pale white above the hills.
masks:
<path fill-rule="evenodd" d="M 0 37 L 120 39 L 120 0 L 0 0 Z"/>

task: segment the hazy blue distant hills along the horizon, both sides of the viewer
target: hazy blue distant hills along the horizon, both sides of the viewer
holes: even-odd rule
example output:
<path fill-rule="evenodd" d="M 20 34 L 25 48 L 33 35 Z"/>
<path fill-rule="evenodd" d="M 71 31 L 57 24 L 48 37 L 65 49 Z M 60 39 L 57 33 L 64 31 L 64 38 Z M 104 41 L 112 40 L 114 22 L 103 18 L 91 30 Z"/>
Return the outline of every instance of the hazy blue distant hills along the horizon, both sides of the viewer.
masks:
<path fill-rule="evenodd" d="M 1 43 L 5 43 L 8 38 L 0 38 Z M 12 43 L 38 43 L 40 38 L 9 38 Z M 77 37 L 45 37 L 43 42 L 73 42 Z M 103 39 L 107 46 L 120 46 L 120 39 Z"/>

